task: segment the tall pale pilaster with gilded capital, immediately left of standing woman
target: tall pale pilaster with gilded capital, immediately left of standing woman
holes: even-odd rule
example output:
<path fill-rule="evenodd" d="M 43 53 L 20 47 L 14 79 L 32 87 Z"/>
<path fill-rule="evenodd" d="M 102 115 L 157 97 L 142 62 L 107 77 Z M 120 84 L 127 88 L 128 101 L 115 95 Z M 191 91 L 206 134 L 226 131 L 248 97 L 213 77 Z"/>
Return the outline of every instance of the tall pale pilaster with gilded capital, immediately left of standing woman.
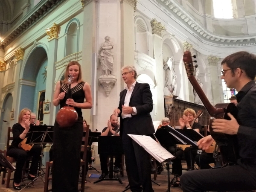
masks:
<path fill-rule="evenodd" d="M 46 33 L 49 36 L 49 52 L 48 52 L 48 63 L 47 63 L 47 78 L 46 78 L 46 90 L 45 90 L 45 101 L 51 102 L 50 113 L 44 114 L 44 124 L 54 125 L 55 121 L 55 107 L 52 104 L 53 94 L 55 90 L 55 75 L 56 67 L 55 62 L 57 61 L 57 49 L 58 49 L 58 33 L 59 27 L 57 24 L 49 29 L 46 29 Z"/>

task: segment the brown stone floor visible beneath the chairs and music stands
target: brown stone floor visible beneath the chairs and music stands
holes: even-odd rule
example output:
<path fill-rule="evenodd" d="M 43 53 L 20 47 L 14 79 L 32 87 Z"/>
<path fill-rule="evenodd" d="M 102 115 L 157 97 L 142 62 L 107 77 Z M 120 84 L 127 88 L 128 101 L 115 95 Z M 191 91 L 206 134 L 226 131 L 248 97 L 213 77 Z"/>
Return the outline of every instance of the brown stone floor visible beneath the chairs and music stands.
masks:
<path fill-rule="evenodd" d="M 98 160 L 96 160 L 98 161 Z M 100 166 L 99 162 L 94 162 L 93 166 L 100 171 Z M 185 166 L 185 165 L 184 165 Z M 89 170 L 88 174 L 100 174 L 96 172 L 95 170 Z M 86 192 L 122 192 L 125 190 L 125 186 L 128 185 L 128 178 L 126 175 L 126 172 L 124 172 L 124 177 L 121 177 L 119 175 L 119 178 L 121 178 L 123 184 L 120 184 L 118 181 L 102 181 L 99 183 L 93 184 L 94 181 L 96 181 L 96 178 L 88 178 L 87 175 L 87 180 L 88 182 L 86 183 Z M 173 175 L 170 175 L 171 178 L 173 178 Z M 0 176 L 2 179 L 2 176 Z M 152 175 L 152 180 L 154 179 Z M 89 182 L 90 181 L 90 182 Z M 161 173 L 161 175 L 157 175 L 157 180 L 155 181 L 158 183 L 160 186 L 158 186 L 155 183 L 152 183 L 153 189 L 155 192 L 166 192 L 168 189 L 168 182 L 167 182 L 167 170 L 164 169 L 164 171 Z M 44 183 L 40 178 L 35 181 L 34 183 L 34 188 L 26 188 L 23 189 L 22 192 L 43 192 L 44 191 Z M 51 182 L 49 182 L 49 188 L 51 188 Z M 0 185 L 0 192 L 17 192 L 17 190 L 14 190 L 12 186 L 10 188 L 6 189 L 4 185 Z M 128 190 L 129 192 L 130 190 Z M 182 189 L 180 187 L 177 188 L 171 188 L 172 192 L 181 192 Z"/>

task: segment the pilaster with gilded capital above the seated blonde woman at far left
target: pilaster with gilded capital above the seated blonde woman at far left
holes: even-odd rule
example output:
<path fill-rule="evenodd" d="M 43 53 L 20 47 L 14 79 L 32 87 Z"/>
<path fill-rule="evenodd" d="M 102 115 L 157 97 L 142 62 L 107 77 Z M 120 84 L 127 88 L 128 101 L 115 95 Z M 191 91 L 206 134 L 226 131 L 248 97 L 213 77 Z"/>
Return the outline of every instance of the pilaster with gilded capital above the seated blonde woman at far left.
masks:
<path fill-rule="evenodd" d="M 15 51 L 16 56 L 16 75 L 15 75 L 15 85 L 13 91 L 13 102 L 12 102 L 12 110 L 15 110 L 15 120 L 14 122 L 18 122 L 18 114 L 20 112 L 20 69 L 23 63 L 24 58 L 24 49 L 21 47 Z"/>

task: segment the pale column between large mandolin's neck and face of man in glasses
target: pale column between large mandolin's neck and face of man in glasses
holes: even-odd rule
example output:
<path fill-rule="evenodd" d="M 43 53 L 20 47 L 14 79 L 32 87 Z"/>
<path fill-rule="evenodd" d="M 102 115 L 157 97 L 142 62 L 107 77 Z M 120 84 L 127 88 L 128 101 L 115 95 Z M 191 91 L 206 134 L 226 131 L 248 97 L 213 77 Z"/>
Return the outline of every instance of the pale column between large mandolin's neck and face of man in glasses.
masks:
<path fill-rule="evenodd" d="M 213 105 L 220 103 L 221 102 L 221 92 L 219 91 L 222 89 L 222 85 L 219 84 L 219 79 L 218 79 L 218 61 L 219 58 L 214 55 L 209 55 L 207 57 L 208 59 L 208 64 L 209 64 L 209 74 L 210 74 L 210 80 L 211 80 L 211 91 L 212 91 L 212 102 Z"/>

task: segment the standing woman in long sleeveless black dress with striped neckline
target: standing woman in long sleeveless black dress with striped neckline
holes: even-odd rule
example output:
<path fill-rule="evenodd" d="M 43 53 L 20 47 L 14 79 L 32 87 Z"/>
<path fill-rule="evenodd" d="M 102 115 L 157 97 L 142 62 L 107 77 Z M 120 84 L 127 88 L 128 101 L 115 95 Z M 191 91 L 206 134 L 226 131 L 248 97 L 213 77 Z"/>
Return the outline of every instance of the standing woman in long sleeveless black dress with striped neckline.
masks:
<path fill-rule="evenodd" d="M 72 99 L 67 99 L 68 75 L 73 76 L 71 83 Z M 81 109 L 92 108 L 90 85 L 82 81 L 81 65 L 71 61 L 66 68 L 65 79 L 58 81 L 53 96 L 53 105 L 62 108 L 73 106 L 78 120 L 69 128 L 54 125 L 54 157 L 52 172 L 52 192 L 77 192 L 80 170 L 80 152 L 83 137 L 83 116 Z M 84 102 L 84 98 L 86 102 Z"/>

